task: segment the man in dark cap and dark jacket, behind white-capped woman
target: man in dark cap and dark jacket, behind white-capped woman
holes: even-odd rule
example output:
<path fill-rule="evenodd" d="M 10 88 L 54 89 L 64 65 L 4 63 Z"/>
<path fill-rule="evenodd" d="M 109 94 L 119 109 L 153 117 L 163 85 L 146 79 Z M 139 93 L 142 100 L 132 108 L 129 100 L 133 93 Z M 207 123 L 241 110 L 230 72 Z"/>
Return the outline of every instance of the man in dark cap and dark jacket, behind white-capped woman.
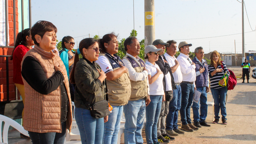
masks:
<path fill-rule="evenodd" d="M 160 70 L 164 74 L 163 84 L 164 84 L 164 92 L 166 96 L 163 97 L 162 107 L 160 116 L 158 119 L 157 124 L 157 137 L 159 142 L 168 142 L 168 140 L 174 140 L 175 138 L 171 137 L 169 134 L 166 133 L 166 115 L 169 112 L 169 101 L 170 98 L 172 98 L 172 90 L 176 89 L 173 75 L 171 73 L 170 67 L 168 62 L 165 60 L 164 57 L 164 50 L 166 49 L 165 46 L 169 46 L 168 43 L 163 42 L 160 39 L 157 39 L 153 42 L 154 46 L 156 48 L 161 48 L 163 52 L 160 53 L 160 56 L 158 57 L 158 61 L 156 61 L 156 64 L 159 66 Z"/>

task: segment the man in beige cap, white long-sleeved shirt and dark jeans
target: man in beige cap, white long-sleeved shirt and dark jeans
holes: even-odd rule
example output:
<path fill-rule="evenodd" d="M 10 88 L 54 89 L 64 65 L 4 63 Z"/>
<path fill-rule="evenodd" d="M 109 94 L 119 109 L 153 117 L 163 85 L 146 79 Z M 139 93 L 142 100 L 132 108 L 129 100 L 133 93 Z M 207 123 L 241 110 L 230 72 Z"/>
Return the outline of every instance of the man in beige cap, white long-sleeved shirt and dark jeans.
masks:
<path fill-rule="evenodd" d="M 192 44 L 188 44 L 187 42 L 179 43 L 179 52 L 181 54 L 178 56 L 177 60 L 181 66 L 182 73 L 180 110 L 181 129 L 193 132 L 194 130 L 198 130 L 198 127 L 195 127 L 190 119 L 190 106 L 193 102 L 194 90 L 196 89 L 194 85 L 194 81 L 196 81 L 196 71 L 194 69 L 196 66 L 189 58 L 189 46 L 192 46 Z"/>

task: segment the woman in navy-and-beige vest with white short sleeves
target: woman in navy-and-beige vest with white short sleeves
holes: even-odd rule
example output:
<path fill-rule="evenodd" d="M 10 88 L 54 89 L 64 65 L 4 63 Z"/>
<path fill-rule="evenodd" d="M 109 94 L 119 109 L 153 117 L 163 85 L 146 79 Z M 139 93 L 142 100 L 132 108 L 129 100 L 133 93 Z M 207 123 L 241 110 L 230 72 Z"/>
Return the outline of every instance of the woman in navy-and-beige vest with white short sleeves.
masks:
<path fill-rule="evenodd" d="M 131 82 L 128 69 L 116 55 L 118 52 L 117 36 L 114 33 L 106 34 L 99 40 L 101 53 L 96 61 L 106 73 L 108 85 L 108 101 L 112 106 L 112 113 L 108 122 L 104 123 L 102 144 L 116 144 L 120 129 L 123 106 L 131 96 Z"/>

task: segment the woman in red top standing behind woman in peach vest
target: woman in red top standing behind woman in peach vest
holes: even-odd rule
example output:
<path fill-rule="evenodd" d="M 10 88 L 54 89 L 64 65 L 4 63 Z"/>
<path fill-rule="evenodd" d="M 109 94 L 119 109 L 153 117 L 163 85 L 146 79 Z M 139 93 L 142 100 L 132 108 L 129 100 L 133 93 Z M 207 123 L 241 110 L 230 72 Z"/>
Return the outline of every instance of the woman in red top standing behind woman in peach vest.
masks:
<path fill-rule="evenodd" d="M 32 40 L 30 29 L 24 29 L 19 32 L 15 41 L 15 46 L 12 52 L 11 60 L 13 60 L 13 82 L 15 86 L 18 88 L 19 93 L 21 94 L 23 104 L 25 102 L 25 91 L 24 84 L 21 78 L 21 61 L 23 56 L 31 49 L 31 46 L 34 45 L 34 41 Z M 22 111 L 23 117 L 24 111 Z M 21 134 L 23 138 L 29 138 Z"/>

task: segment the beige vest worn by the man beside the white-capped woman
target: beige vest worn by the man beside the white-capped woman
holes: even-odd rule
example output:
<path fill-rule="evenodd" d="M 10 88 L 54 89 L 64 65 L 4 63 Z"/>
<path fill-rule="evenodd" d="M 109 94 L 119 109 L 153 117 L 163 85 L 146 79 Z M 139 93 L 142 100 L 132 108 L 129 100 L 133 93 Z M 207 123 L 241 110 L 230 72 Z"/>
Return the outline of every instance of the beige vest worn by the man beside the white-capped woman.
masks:
<path fill-rule="evenodd" d="M 137 73 L 141 73 L 145 67 L 145 63 L 142 59 L 138 61 L 134 60 L 130 56 L 125 56 L 123 59 L 128 60 Z M 131 81 L 131 98 L 130 100 L 140 100 L 142 98 L 148 99 L 148 86 L 147 79 L 144 81 Z"/>

